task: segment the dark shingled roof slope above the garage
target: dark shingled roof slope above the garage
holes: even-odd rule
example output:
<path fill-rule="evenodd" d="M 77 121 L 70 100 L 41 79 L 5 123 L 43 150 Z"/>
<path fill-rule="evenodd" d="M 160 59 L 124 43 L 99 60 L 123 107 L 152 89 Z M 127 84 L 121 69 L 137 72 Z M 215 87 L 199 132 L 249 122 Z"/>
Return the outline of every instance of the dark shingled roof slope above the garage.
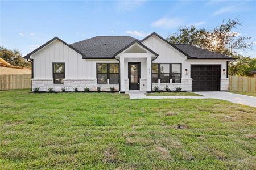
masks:
<path fill-rule="evenodd" d="M 196 46 L 188 45 L 188 44 L 174 44 L 177 48 L 179 48 L 184 53 L 188 54 L 188 59 L 234 59 L 230 56 L 225 56 L 220 53 L 210 52 L 209 50 L 198 48 Z"/>

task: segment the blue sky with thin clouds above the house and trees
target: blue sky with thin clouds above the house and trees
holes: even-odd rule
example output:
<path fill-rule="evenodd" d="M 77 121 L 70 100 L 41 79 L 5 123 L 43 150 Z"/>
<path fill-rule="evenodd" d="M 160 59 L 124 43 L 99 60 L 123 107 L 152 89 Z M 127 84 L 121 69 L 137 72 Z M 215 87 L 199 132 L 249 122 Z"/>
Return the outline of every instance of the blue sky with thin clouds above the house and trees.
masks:
<path fill-rule="evenodd" d="M 256 1 L 1 1 L 0 45 L 23 56 L 57 36 L 68 44 L 98 35 L 151 32 L 166 38 L 177 27 L 213 29 L 238 17 L 241 36 L 256 44 Z M 253 50 L 239 53 L 256 57 Z"/>

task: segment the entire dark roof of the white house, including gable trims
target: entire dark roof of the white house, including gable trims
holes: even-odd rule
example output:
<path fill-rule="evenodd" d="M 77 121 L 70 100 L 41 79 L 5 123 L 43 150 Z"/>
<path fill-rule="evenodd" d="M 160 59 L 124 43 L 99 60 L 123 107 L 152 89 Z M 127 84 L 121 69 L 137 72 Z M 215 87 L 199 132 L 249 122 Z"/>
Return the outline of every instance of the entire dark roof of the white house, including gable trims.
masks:
<path fill-rule="evenodd" d="M 66 42 L 59 39 L 58 37 L 54 37 L 52 40 L 46 42 L 46 44 L 40 46 L 38 49 L 35 49 L 30 54 L 27 54 L 27 56 L 25 56 L 24 58 L 30 58 L 30 55 L 44 48 L 44 46 L 50 44 L 54 40 L 59 40 L 63 42 L 65 45 L 69 46 L 77 53 L 81 54 L 82 58 L 85 59 L 114 58 L 115 55 L 129 48 L 129 46 L 133 45 L 135 42 L 137 42 L 139 45 L 143 46 L 143 48 L 147 49 L 156 56 L 159 56 L 153 50 L 151 50 L 150 48 L 141 43 L 144 40 L 151 37 L 152 35 L 158 36 L 160 39 L 165 41 L 167 44 L 171 45 L 180 53 L 187 56 L 187 59 L 234 59 L 230 56 L 210 52 L 209 50 L 197 48 L 195 46 L 188 44 L 171 44 L 155 32 L 151 33 L 141 41 L 130 36 L 96 36 L 91 39 L 75 42 L 70 45 L 68 45 Z"/>

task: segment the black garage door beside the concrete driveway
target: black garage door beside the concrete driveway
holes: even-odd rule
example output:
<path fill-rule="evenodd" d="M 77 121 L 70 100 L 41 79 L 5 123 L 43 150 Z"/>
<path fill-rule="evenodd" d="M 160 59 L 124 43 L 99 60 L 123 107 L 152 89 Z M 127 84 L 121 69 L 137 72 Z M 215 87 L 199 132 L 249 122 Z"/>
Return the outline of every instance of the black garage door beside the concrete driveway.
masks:
<path fill-rule="evenodd" d="M 221 65 L 191 65 L 192 91 L 220 91 Z"/>

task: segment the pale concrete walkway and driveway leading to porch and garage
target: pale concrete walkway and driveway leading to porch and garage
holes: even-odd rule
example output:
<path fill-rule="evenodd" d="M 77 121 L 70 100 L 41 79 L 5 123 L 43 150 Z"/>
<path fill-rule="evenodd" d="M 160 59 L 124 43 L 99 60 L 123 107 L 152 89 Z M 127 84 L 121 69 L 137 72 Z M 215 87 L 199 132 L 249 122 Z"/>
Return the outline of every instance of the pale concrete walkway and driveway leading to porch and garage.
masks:
<path fill-rule="evenodd" d="M 232 103 L 249 105 L 256 107 L 256 97 L 246 96 L 240 94 L 233 94 L 224 91 L 213 91 L 213 92 L 194 92 L 203 96 L 146 96 L 146 92 L 142 91 L 129 91 L 127 92 L 130 99 L 221 99 L 228 100 Z"/>

